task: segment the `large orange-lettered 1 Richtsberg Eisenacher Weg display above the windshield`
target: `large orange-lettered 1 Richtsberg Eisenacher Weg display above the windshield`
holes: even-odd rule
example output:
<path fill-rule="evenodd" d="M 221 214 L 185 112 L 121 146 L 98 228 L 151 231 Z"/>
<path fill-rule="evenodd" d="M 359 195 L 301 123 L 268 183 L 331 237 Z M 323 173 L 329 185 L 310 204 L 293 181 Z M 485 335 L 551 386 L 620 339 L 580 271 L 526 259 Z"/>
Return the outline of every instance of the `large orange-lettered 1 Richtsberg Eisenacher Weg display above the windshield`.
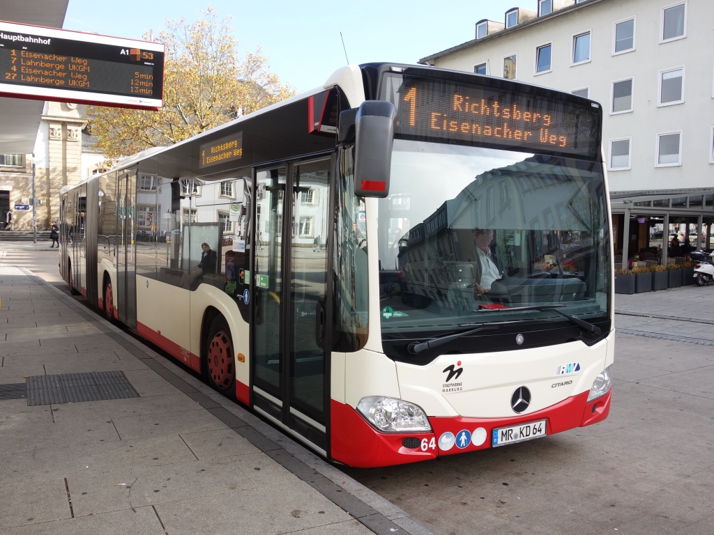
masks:
<path fill-rule="evenodd" d="M 591 103 L 407 76 L 394 87 L 396 133 L 405 137 L 599 156 L 600 109 Z"/>

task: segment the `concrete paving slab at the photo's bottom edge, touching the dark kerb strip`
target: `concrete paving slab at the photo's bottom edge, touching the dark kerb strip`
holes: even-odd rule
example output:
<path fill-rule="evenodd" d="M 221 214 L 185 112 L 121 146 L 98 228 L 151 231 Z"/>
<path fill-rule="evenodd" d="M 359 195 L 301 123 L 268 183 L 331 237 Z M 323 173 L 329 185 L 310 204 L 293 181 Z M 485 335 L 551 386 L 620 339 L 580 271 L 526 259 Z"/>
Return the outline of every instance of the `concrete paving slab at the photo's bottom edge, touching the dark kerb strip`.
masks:
<path fill-rule="evenodd" d="M 231 492 L 219 501 L 203 497 L 158 504 L 156 511 L 172 535 L 227 534 L 237 526 L 241 534 L 277 535 L 351 520 L 307 484 L 291 485 L 281 493 L 258 488 Z"/>

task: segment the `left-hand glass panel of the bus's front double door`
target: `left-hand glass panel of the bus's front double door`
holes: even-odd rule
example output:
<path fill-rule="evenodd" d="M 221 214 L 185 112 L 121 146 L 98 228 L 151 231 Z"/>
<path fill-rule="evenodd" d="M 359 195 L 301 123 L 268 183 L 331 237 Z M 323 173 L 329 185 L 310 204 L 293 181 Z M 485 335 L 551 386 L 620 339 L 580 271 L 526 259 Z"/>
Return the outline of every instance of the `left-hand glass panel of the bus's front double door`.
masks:
<path fill-rule="evenodd" d="M 283 198 L 286 168 L 261 170 L 256 173 L 256 256 L 253 288 L 256 318 L 253 329 L 257 387 L 280 399 L 281 374 L 281 301 Z"/>

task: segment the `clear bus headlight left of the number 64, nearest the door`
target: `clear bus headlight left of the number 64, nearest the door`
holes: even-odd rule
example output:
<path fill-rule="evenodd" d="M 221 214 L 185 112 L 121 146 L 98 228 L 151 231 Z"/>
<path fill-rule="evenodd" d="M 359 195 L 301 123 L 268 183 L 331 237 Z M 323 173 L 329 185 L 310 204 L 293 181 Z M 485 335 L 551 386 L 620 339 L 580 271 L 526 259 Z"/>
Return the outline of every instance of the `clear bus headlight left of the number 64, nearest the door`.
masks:
<path fill-rule="evenodd" d="M 431 431 L 421 407 L 393 397 L 369 396 L 360 399 L 357 410 L 384 432 Z"/>

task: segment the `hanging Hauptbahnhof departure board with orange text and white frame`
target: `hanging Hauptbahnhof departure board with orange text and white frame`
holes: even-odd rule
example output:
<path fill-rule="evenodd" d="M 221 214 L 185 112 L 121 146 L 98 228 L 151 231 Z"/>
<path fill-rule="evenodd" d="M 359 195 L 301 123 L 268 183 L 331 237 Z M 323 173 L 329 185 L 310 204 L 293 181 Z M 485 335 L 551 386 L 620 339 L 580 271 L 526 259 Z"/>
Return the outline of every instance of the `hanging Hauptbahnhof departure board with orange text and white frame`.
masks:
<path fill-rule="evenodd" d="M 0 95 L 158 110 L 164 45 L 0 21 Z"/>

